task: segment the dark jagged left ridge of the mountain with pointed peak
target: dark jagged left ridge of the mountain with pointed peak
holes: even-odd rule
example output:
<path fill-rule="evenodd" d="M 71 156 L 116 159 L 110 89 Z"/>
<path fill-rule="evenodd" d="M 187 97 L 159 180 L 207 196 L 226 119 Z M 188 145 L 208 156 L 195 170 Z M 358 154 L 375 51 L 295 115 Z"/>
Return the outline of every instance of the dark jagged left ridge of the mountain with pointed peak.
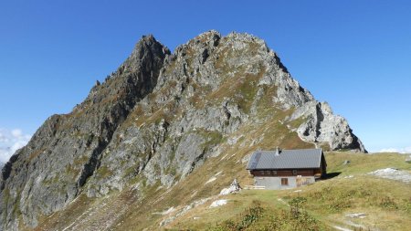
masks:
<path fill-rule="evenodd" d="M 37 226 L 38 215 L 61 209 L 79 194 L 113 132 L 155 87 L 167 54 L 153 37 L 143 37 L 110 79 L 71 113 L 48 118 L 11 157 L 0 182 L 2 229 L 16 230 L 20 218 Z"/>

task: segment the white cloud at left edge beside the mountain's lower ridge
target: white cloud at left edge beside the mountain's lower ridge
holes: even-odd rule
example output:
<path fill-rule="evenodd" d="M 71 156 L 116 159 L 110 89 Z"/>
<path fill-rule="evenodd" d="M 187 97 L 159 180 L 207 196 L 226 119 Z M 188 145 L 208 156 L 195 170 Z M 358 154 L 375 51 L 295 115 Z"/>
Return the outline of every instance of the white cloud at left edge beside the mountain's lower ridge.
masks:
<path fill-rule="evenodd" d="M 30 138 L 31 135 L 24 134 L 20 129 L 10 131 L 0 128 L 0 162 L 6 163 L 16 150 L 30 141 Z"/>

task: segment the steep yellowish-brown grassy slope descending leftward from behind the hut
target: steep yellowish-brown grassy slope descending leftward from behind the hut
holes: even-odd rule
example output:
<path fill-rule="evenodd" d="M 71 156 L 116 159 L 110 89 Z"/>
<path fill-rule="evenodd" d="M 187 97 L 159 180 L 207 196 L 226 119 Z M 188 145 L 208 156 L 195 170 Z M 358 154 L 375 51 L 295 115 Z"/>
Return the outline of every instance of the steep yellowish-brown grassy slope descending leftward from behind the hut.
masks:
<path fill-rule="evenodd" d="M 169 215 L 182 214 L 187 206 L 195 207 L 195 202 L 219 194 L 234 178 L 240 184 L 252 184 L 245 170 L 248 162 L 245 157 L 256 149 L 313 147 L 311 143 L 300 141 L 297 133 L 288 129 L 287 126 L 294 124 L 279 120 L 290 112 L 268 112 L 259 123 L 249 122 L 227 137 L 218 137 L 222 143 L 215 147 L 216 155 L 207 158 L 193 173 L 171 188 L 165 188 L 160 183 L 145 184 L 144 177 L 137 175 L 130 186 L 121 192 L 114 191 L 102 198 L 87 198 L 80 194 L 66 209 L 43 216 L 36 230 L 157 230 L 172 227 L 173 222 L 170 226 L 159 226 L 168 218 L 168 215 L 161 214 L 164 210 L 174 207 L 174 213 Z M 216 139 L 213 133 L 205 136 L 208 142 Z"/>

